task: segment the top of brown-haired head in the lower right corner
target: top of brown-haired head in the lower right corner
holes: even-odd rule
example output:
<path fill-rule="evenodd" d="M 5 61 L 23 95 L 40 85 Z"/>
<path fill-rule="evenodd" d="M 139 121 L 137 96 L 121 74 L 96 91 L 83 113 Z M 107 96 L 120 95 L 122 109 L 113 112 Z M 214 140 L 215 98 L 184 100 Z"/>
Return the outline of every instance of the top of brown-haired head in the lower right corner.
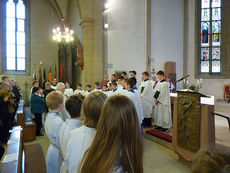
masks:
<path fill-rule="evenodd" d="M 195 156 L 191 173 L 230 173 L 230 152 L 216 147 L 201 149 Z"/>

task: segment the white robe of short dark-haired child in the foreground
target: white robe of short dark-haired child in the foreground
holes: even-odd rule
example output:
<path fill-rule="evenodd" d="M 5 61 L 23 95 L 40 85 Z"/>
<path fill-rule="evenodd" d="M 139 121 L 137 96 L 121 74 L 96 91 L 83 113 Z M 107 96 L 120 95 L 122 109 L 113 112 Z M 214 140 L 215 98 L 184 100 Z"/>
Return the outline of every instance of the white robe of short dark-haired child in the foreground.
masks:
<path fill-rule="evenodd" d="M 65 123 L 63 123 L 61 130 L 59 132 L 59 147 L 62 154 L 62 165 L 61 171 L 62 173 L 65 172 L 65 154 L 66 154 L 66 147 L 69 141 L 70 132 L 73 129 L 81 127 L 81 121 L 77 119 L 66 119 Z"/>

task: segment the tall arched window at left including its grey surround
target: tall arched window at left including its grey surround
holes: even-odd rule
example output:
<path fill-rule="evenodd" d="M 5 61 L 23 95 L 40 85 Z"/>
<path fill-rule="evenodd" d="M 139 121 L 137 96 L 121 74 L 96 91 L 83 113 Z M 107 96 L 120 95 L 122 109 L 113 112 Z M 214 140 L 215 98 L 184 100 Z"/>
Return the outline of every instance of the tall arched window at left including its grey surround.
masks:
<path fill-rule="evenodd" d="M 28 11 L 24 0 L 1 3 L 2 73 L 28 73 Z"/>

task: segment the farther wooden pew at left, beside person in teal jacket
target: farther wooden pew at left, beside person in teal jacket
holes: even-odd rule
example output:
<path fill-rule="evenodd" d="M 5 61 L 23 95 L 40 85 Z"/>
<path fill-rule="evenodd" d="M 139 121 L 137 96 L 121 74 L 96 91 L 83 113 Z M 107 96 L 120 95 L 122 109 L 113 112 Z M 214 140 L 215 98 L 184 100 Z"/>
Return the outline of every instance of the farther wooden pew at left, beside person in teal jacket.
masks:
<path fill-rule="evenodd" d="M 35 140 L 36 123 L 33 120 L 25 120 L 23 100 L 20 101 L 17 109 L 17 125 L 23 128 L 24 142 L 31 142 Z"/>

